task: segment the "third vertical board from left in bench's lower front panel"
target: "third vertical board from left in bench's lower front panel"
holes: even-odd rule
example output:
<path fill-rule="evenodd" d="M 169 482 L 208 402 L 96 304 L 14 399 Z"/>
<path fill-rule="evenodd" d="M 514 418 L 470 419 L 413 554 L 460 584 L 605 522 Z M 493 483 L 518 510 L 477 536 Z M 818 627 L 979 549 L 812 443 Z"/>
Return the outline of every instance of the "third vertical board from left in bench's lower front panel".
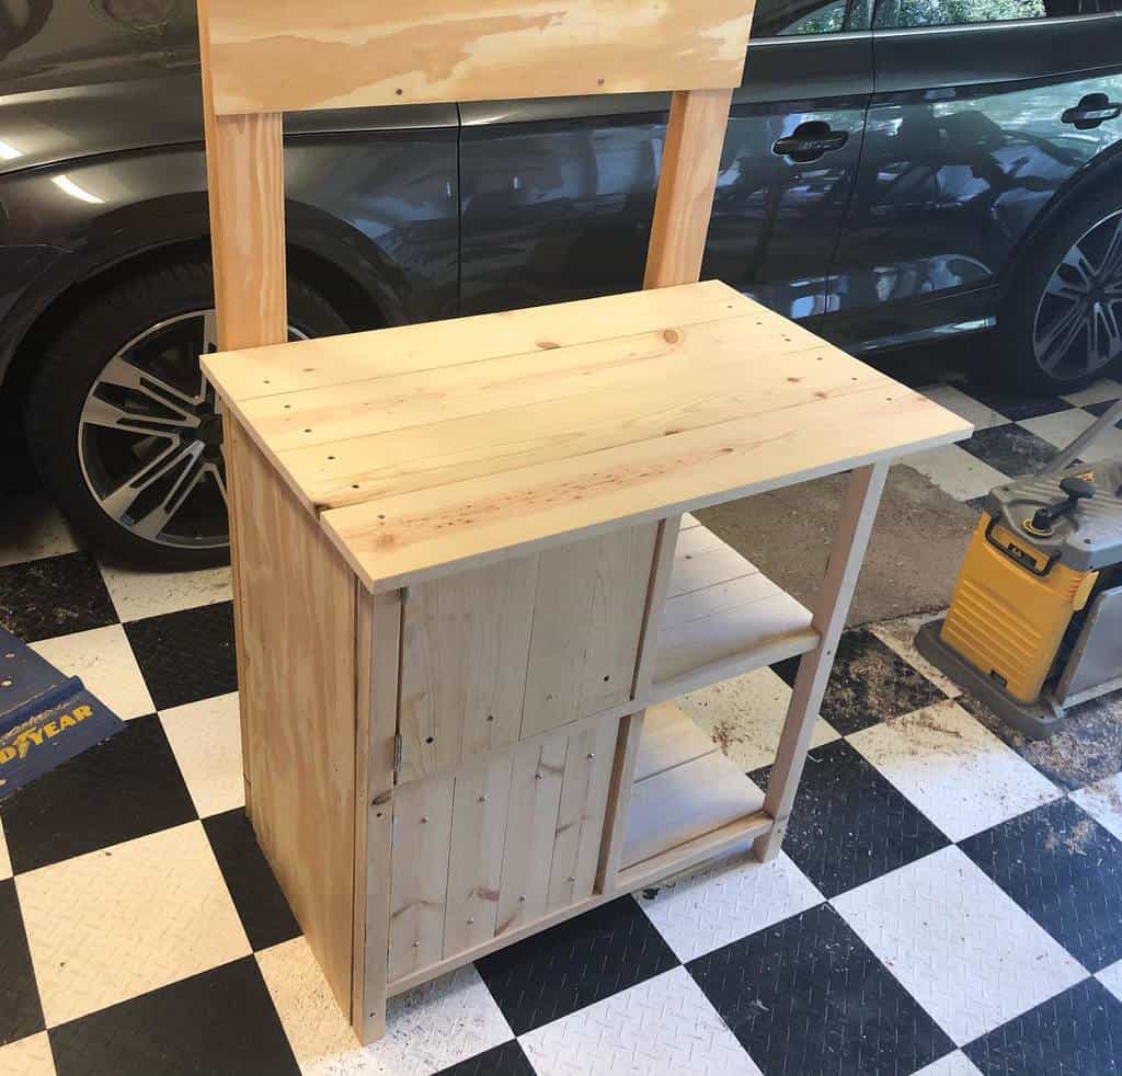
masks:
<path fill-rule="evenodd" d="M 568 747 L 562 734 L 514 749 L 498 896 L 500 935 L 545 914 Z"/>

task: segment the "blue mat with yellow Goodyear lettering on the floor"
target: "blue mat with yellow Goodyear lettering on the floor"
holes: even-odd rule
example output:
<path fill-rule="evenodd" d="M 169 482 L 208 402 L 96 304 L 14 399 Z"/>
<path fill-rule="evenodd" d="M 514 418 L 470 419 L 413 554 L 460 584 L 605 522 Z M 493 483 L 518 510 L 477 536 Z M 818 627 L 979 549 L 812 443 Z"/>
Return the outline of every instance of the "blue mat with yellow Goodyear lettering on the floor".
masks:
<path fill-rule="evenodd" d="M 123 727 L 77 677 L 0 627 L 0 800 Z"/>

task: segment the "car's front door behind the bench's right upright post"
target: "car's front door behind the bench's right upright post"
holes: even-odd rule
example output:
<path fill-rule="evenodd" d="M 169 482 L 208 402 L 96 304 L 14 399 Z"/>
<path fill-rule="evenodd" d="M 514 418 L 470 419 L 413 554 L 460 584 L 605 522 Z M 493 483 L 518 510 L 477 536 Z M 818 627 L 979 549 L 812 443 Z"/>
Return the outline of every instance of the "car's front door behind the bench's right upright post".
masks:
<path fill-rule="evenodd" d="M 705 275 L 825 309 L 872 90 L 864 0 L 761 0 L 734 95 Z M 668 98 L 461 105 L 463 313 L 636 288 Z"/>

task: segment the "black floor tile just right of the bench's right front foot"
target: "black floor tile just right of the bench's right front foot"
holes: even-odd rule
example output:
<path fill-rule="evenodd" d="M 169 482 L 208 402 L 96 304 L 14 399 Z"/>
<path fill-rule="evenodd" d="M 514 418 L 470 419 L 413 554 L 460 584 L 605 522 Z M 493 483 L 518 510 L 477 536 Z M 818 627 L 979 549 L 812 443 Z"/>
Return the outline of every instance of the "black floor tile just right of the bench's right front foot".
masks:
<path fill-rule="evenodd" d="M 771 767 L 749 776 L 766 789 Z M 949 843 L 840 739 L 807 757 L 783 850 L 831 898 Z"/>

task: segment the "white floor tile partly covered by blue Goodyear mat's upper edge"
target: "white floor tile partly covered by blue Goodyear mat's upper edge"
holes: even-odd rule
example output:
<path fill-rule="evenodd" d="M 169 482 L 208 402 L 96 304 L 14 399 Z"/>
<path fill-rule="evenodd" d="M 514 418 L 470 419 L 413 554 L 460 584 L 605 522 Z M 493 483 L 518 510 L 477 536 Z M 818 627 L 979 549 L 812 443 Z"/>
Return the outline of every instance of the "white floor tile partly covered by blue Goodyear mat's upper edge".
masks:
<path fill-rule="evenodd" d="M 125 720 L 156 709 L 120 624 L 47 638 L 31 650 L 65 675 L 81 677 L 86 690 Z"/>

